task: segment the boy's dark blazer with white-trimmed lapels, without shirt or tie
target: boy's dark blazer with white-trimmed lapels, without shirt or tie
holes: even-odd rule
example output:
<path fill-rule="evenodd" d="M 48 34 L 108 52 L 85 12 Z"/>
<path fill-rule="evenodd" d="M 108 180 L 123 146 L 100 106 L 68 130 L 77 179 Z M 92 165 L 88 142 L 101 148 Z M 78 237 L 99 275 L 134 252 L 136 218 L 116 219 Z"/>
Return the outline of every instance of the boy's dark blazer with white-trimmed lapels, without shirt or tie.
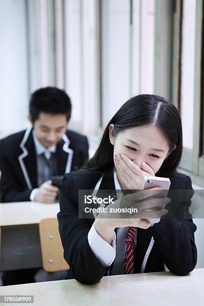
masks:
<path fill-rule="evenodd" d="M 87 137 L 67 130 L 56 145 L 57 175 L 79 169 L 88 159 Z M 37 166 L 32 128 L 0 140 L 0 189 L 3 202 L 29 201 L 37 185 Z"/>

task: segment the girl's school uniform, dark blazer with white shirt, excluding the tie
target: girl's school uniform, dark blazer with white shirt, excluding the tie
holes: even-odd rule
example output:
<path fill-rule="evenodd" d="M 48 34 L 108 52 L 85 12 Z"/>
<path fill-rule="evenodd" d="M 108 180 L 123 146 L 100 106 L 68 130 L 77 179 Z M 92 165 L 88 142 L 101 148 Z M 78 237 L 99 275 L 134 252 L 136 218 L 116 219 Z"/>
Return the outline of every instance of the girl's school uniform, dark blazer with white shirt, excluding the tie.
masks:
<path fill-rule="evenodd" d="M 180 218 L 161 217 L 148 229 L 136 228 L 134 273 L 164 271 L 165 264 L 171 272 L 184 275 L 195 267 L 197 260 L 194 243 L 196 225 L 188 212 L 193 194 L 191 180 L 189 176 L 175 171 L 157 172 L 156 176 L 169 177 L 170 189 L 177 189 L 183 196 L 185 211 L 179 211 Z M 60 211 L 57 218 L 64 258 L 75 279 L 86 284 L 94 283 L 104 275 L 123 273 L 124 237 L 128 227 L 115 228 L 110 245 L 95 231 L 92 225 L 94 218 L 78 218 L 78 190 L 93 191 L 97 188 L 98 192 L 100 189 L 118 189 L 113 168 L 104 173 L 95 169 L 67 173 L 59 187 Z M 180 189 L 190 192 L 186 196 Z M 173 215 L 172 207 L 176 209 L 176 204 L 170 203 L 168 207 Z"/>

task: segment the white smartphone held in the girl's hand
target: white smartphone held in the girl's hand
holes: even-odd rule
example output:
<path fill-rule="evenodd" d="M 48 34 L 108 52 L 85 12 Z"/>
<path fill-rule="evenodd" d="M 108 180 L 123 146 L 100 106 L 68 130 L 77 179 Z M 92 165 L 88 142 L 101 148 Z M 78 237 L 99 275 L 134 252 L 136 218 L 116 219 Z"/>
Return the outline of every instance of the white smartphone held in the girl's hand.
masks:
<path fill-rule="evenodd" d="M 158 197 L 166 197 L 168 193 L 168 189 L 170 187 L 170 179 L 168 177 L 144 176 L 142 184 L 141 184 L 141 189 L 144 190 L 144 189 L 150 189 L 154 187 L 162 188 L 162 191 L 160 192 Z M 146 209 L 147 211 L 154 211 L 158 209 L 158 206 L 146 208 Z M 160 218 L 148 218 L 148 220 L 151 222 L 151 224 L 153 224 L 153 223 L 159 222 Z"/>

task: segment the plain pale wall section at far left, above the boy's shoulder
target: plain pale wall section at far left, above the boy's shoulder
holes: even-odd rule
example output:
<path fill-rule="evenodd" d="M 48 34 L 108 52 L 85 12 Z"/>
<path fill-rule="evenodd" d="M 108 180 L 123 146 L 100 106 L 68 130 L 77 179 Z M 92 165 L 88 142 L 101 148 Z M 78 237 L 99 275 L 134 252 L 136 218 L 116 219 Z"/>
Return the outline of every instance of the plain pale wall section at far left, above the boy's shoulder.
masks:
<path fill-rule="evenodd" d="M 27 101 L 28 65 L 25 1 L 1 0 L 0 137 L 26 126 Z"/>

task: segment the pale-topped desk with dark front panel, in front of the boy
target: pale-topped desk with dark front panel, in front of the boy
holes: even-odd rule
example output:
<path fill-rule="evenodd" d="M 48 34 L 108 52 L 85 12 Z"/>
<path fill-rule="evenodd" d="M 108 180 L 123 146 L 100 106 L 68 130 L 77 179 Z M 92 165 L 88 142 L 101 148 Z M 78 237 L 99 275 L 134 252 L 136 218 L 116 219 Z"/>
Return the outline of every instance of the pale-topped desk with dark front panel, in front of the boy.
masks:
<path fill-rule="evenodd" d="M 58 211 L 58 203 L 0 203 L 0 271 L 42 266 L 38 223 Z"/>

